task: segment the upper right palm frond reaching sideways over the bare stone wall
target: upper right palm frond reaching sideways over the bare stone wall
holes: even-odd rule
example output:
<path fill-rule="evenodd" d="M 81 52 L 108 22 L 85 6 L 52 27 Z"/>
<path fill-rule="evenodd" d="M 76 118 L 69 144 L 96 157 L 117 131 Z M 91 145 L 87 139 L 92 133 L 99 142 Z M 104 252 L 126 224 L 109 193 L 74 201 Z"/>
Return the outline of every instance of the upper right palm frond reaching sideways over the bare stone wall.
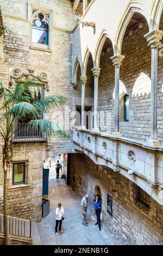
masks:
<path fill-rule="evenodd" d="M 41 111 L 42 113 L 48 113 L 54 107 L 59 107 L 65 105 L 68 101 L 67 97 L 62 95 L 51 95 L 44 97 L 40 100 L 37 100 L 33 103 L 33 106 L 37 111 Z"/>

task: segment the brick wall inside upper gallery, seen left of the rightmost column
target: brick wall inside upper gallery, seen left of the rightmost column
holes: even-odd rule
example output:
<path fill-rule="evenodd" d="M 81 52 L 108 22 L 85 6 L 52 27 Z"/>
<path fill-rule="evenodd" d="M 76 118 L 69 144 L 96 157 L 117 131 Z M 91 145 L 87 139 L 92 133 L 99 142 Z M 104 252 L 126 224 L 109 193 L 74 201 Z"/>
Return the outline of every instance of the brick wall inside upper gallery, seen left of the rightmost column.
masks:
<path fill-rule="evenodd" d="M 137 28 L 134 34 L 124 36 L 122 44 L 123 59 L 120 70 L 120 96 L 128 93 L 129 123 L 120 125 L 123 136 L 145 141 L 151 130 L 151 50 L 143 37 L 148 32 L 145 23 L 143 29 Z M 114 67 L 110 57 L 113 52 L 101 56 L 99 77 L 99 111 L 109 110 L 108 131 L 114 131 Z M 159 103 L 159 102 L 158 102 Z"/>

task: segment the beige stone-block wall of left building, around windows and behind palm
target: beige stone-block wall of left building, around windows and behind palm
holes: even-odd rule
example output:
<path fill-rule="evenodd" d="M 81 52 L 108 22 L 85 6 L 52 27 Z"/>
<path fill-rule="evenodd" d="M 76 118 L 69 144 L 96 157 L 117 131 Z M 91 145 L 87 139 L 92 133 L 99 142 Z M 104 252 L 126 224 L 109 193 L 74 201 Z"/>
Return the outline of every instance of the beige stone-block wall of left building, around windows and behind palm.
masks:
<path fill-rule="evenodd" d="M 49 91 L 44 90 L 45 96 L 52 94 L 65 95 L 67 105 L 51 110 L 47 119 L 60 122 L 60 125 L 72 135 L 69 130 L 69 112 L 73 107 L 73 89 L 71 86 L 71 31 L 76 26 L 73 21 L 72 3 L 66 0 L 32 1 L 34 4 L 53 9 L 54 24 L 52 28 L 52 52 L 34 50 L 30 45 L 30 23 L 28 20 L 28 1 L 2 1 L 0 5 L 4 26 L 7 30 L 0 38 L 0 81 L 8 88 L 10 69 L 20 69 L 26 72 L 32 69 L 35 75 L 41 72 L 48 75 Z M 40 8 L 41 9 L 41 8 Z M 1 99 L 1 103 L 2 103 Z M 65 121 L 63 122 L 62 120 Z M 0 138 L 2 144 L 2 138 Z M 41 220 L 42 205 L 42 168 L 47 157 L 73 150 L 73 142 L 60 141 L 50 138 L 48 142 L 28 142 L 10 144 L 10 161 L 28 158 L 29 186 L 10 186 L 8 174 L 8 208 L 9 215 L 36 221 Z M 16 157 L 16 158 L 15 158 Z M 2 147 L 0 147 L 0 212 L 3 213 L 3 169 Z"/>

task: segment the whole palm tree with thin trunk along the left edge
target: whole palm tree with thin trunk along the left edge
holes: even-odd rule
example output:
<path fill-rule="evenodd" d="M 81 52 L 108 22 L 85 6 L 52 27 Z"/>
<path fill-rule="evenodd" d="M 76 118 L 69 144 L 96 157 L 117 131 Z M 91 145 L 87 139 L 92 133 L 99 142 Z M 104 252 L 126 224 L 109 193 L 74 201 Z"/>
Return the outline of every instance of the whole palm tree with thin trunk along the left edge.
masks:
<path fill-rule="evenodd" d="M 4 208 L 4 244 L 8 244 L 8 209 L 7 209 L 7 172 L 9 170 L 9 146 L 11 138 L 17 132 L 15 127 L 19 120 L 26 119 L 27 127 L 49 136 L 68 138 L 68 134 L 52 120 L 41 119 L 42 113 L 48 113 L 54 107 L 63 106 L 67 98 L 61 95 L 51 95 L 35 100 L 33 93 L 34 80 L 18 82 L 11 90 L 0 82 L 0 136 L 3 140 L 3 208 Z"/>

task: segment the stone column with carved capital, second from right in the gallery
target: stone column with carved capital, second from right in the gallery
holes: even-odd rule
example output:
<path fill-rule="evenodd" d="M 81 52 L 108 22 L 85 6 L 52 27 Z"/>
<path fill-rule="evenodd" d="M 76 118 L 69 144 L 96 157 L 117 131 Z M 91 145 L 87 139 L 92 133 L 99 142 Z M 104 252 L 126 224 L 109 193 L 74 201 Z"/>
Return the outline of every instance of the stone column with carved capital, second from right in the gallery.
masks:
<path fill-rule="evenodd" d="M 120 92 L 120 66 L 125 56 L 115 55 L 111 57 L 113 65 L 115 66 L 115 115 L 114 115 L 114 137 L 121 137 L 119 131 L 119 92 Z"/>

